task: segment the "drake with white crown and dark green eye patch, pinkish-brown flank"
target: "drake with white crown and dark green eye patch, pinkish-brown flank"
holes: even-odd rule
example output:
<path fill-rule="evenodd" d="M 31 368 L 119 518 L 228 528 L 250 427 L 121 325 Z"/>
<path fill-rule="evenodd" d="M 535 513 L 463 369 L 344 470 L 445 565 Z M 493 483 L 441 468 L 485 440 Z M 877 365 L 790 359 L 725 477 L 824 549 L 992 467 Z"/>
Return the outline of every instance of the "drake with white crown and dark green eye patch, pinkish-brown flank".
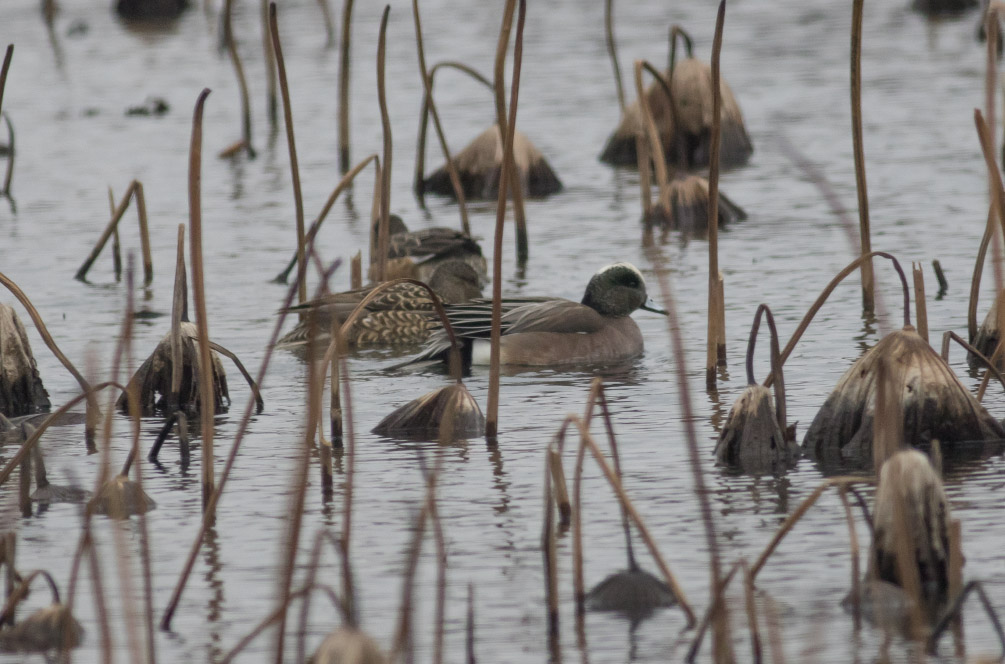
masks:
<path fill-rule="evenodd" d="M 615 263 L 593 275 L 580 302 L 558 297 L 504 299 L 504 365 L 548 367 L 618 363 L 642 354 L 642 333 L 629 314 L 643 308 L 665 314 L 645 291 L 642 273 L 630 263 Z M 447 307 L 454 334 L 463 344 L 465 365 L 488 364 L 492 303 L 477 299 Z M 446 360 L 446 333 L 434 334 L 408 364 Z"/>

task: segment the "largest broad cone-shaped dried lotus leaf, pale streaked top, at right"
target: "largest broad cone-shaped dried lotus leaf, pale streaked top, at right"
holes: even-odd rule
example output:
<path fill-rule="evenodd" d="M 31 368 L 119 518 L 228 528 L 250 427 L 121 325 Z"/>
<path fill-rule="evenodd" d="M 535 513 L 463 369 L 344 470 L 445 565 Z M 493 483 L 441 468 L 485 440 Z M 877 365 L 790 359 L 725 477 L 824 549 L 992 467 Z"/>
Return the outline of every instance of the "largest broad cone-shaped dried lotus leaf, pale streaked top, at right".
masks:
<path fill-rule="evenodd" d="M 890 333 L 859 358 L 824 402 L 803 440 L 824 463 L 867 462 L 872 454 L 880 362 L 900 398 L 901 441 L 926 447 L 942 442 L 947 457 L 983 455 L 1005 429 L 977 402 L 939 354 L 911 325 Z"/>

